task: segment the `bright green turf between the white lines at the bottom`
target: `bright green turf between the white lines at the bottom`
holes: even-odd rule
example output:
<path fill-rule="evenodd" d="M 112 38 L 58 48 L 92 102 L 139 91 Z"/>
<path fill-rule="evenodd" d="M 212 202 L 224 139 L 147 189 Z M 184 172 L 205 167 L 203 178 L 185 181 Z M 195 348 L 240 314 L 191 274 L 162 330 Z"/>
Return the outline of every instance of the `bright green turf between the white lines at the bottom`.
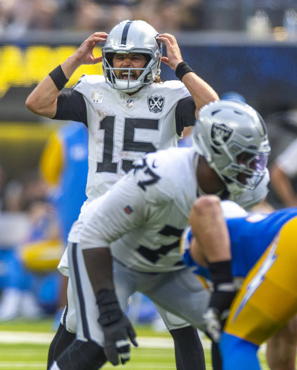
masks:
<path fill-rule="evenodd" d="M 1 332 L 52 332 L 52 320 L 14 320 L 7 323 L 0 323 Z M 136 326 L 139 337 L 162 337 L 170 338 L 167 332 L 154 332 L 148 326 Z M 45 370 L 47 363 L 48 344 L 31 343 L 5 343 L 5 339 L 0 343 L 0 369 L 2 370 Z M 264 354 L 260 353 L 263 370 L 268 370 L 264 360 Z M 206 369 L 210 370 L 211 359 L 210 351 L 205 350 Z M 105 369 L 112 369 L 111 364 L 106 364 Z M 132 348 L 131 360 L 125 364 L 124 370 L 174 370 L 174 349 L 172 348 Z"/>

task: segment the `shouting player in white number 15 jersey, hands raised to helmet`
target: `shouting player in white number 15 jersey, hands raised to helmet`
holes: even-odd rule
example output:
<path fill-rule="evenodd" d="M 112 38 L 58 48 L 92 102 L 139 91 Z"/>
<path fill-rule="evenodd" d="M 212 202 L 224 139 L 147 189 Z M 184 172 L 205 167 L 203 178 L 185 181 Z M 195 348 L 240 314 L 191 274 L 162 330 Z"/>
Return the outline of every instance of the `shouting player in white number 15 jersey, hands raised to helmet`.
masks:
<path fill-rule="evenodd" d="M 93 49 L 99 42 L 105 46 L 102 57 L 96 58 Z M 167 57 L 162 57 L 162 42 Z M 60 93 L 76 68 L 101 61 L 104 77 L 83 75 L 71 92 Z M 161 62 L 173 68 L 180 81 L 163 83 Z M 36 114 L 81 121 L 88 127 L 88 203 L 104 194 L 147 152 L 176 146 L 184 127 L 194 125 L 197 111 L 216 99 L 216 92 L 182 60 L 174 36 L 158 35 L 153 27 L 137 20 L 121 22 L 108 35 L 92 34 L 41 81 L 26 105 Z M 67 259 L 62 259 L 60 267 L 68 275 Z M 71 287 L 68 295 L 64 326 L 61 324 L 51 345 L 49 363 L 75 337 Z M 191 362 L 195 369 L 204 369 Z"/>

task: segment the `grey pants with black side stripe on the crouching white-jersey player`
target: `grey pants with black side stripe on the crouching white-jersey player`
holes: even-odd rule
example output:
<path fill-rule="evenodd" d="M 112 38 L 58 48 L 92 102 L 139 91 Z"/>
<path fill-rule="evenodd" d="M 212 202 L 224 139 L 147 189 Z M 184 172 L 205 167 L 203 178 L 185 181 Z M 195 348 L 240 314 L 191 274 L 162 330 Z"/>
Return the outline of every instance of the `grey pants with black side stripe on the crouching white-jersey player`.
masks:
<path fill-rule="evenodd" d="M 91 339 L 102 346 L 104 338 L 98 323 L 99 310 L 79 244 L 69 245 L 68 257 L 77 314 L 77 338 Z M 116 295 L 124 312 L 127 299 L 138 290 L 165 310 L 205 330 L 202 313 L 206 311 L 210 295 L 191 269 L 157 274 L 141 273 L 113 260 L 113 277 Z"/>

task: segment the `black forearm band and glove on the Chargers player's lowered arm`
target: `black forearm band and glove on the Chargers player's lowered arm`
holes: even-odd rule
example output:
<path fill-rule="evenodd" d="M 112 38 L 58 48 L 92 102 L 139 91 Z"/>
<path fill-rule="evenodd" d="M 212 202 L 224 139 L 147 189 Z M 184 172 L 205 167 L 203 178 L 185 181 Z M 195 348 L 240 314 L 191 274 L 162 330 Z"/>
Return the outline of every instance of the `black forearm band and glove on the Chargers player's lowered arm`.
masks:
<path fill-rule="evenodd" d="M 203 318 L 206 323 L 206 333 L 215 343 L 218 343 L 229 314 L 229 307 L 236 296 L 236 289 L 233 284 L 231 261 L 212 262 L 208 267 L 214 282 L 214 292 Z"/>

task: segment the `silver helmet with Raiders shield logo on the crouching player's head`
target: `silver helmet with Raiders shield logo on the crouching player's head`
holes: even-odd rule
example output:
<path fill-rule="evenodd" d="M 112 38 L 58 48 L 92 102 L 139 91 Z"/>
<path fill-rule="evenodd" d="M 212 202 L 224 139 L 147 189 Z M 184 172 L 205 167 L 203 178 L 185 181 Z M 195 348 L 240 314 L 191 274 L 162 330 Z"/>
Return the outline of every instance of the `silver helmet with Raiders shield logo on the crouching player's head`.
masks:
<path fill-rule="evenodd" d="M 202 107 L 194 129 L 193 147 L 232 194 L 254 189 L 266 173 L 270 153 L 266 126 L 248 104 L 220 100 Z"/>

